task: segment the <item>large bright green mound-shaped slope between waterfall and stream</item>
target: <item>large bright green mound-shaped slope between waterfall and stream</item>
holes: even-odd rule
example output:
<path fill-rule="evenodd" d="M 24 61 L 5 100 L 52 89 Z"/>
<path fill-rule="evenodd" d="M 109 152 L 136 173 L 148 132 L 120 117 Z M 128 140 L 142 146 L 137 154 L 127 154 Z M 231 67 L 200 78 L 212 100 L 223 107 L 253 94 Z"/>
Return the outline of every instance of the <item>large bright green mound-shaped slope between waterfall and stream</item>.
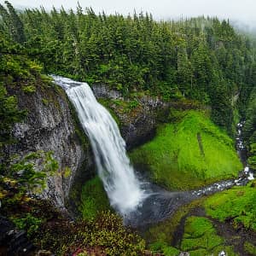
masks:
<path fill-rule="evenodd" d="M 174 123 L 160 126 L 153 141 L 130 155 L 167 189 L 195 189 L 242 169 L 233 141 L 199 111 L 176 112 Z"/>

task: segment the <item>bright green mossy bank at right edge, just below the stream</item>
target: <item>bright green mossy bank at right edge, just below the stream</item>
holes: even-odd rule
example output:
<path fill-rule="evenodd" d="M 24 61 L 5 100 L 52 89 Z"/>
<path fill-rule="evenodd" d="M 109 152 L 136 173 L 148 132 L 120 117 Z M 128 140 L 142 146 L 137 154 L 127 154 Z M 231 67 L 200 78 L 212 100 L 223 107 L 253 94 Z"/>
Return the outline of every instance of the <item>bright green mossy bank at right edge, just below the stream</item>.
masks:
<path fill-rule="evenodd" d="M 212 195 L 204 203 L 207 215 L 220 221 L 232 219 L 235 227 L 240 224 L 256 231 L 256 189 L 253 183 L 246 187 L 233 187 Z"/>

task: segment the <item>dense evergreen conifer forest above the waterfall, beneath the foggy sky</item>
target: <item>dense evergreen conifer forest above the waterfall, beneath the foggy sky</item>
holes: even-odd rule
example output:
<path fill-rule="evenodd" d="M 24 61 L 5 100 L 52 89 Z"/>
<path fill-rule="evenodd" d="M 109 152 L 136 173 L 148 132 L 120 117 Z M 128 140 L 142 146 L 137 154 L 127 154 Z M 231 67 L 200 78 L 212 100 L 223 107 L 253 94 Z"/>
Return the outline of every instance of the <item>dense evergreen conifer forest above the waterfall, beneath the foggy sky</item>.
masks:
<path fill-rule="evenodd" d="M 166 101 L 188 97 L 210 105 L 212 120 L 230 132 L 232 98 L 239 92 L 242 106 L 255 84 L 253 44 L 226 20 L 155 21 L 143 13 L 96 15 L 92 9 L 18 13 L 8 2 L 0 16 L 3 38 L 20 44 L 46 73 L 108 84 L 123 96 L 149 90 Z M 4 58 L 4 68 L 27 76 L 13 56 Z"/>

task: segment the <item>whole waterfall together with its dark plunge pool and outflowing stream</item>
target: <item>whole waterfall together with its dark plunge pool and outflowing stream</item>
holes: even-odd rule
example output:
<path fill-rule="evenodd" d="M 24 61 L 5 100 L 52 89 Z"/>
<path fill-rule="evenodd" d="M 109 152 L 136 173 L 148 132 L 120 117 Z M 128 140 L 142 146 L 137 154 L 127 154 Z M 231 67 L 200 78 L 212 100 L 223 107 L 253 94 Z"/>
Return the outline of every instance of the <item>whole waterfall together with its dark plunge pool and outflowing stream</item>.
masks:
<path fill-rule="evenodd" d="M 77 110 L 80 123 L 90 138 L 96 160 L 97 172 L 112 207 L 132 227 L 145 228 L 172 216 L 177 208 L 204 195 L 212 195 L 235 185 L 245 185 L 254 179 L 247 166 L 247 151 L 242 141 L 244 121 L 237 124 L 236 150 L 244 169 L 237 179 L 212 183 L 192 191 L 167 191 L 146 182 L 134 170 L 126 155 L 125 141 L 118 125 L 106 108 L 96 101 L 90 86 L 59 76 L 52 76 L 56 84 L 66 90 Z"/>

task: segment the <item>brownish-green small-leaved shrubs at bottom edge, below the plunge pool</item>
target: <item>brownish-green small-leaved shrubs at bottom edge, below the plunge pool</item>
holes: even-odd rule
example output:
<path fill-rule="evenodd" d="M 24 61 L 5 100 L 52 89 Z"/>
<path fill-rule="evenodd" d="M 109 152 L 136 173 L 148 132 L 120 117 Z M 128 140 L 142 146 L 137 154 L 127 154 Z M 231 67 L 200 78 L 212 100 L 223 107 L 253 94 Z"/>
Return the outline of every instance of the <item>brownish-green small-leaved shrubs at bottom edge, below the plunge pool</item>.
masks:
<path fill-rule="evenodd" d="M 94 221 L 45 225 L 34 242 L 38 247 L 65 255 L 76 251 L 102 255 L 143 255 L 145 241 L 124 227 L 122 219 L 102 212 Z M 95 250 L 93 250 L 95 248 Z"/>

